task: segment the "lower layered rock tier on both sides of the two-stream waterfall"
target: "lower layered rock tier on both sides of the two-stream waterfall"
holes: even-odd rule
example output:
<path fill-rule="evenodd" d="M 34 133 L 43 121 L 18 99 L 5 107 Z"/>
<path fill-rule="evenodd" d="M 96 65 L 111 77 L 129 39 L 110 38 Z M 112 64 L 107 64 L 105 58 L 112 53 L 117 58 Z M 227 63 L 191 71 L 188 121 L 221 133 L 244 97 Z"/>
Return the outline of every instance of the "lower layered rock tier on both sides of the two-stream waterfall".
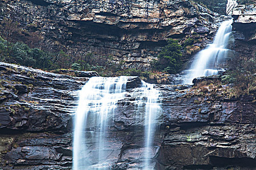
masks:
<path fill-rule="evenodd" d="M 88 78 L 5 63 L 0 63 L 0 72 L 0 167 L 70 170 L 77 90 Z M 88 74 L 90 77 L 92 73 Z M 211 87 L 218 78 L 196 83 L 205 81 L 203 87 L 155 86 L 162 99 L 159 126 L 151 148 L 156 170 L 255 168 L 253 97 L 228 99 L 227 86 Z M 111 151 L 106 160 L 114 160 L 113 170 L 137 170 L 142 166 L 144 122 L 143 116 L 137 117 L 135 102 L 136 87 L 140 85 L 138 78 L 129 80 L 127 94 L 118 102 L 114 124 L 106 135 Z M 143 114 L 143 107 L 139 112 Z"/>

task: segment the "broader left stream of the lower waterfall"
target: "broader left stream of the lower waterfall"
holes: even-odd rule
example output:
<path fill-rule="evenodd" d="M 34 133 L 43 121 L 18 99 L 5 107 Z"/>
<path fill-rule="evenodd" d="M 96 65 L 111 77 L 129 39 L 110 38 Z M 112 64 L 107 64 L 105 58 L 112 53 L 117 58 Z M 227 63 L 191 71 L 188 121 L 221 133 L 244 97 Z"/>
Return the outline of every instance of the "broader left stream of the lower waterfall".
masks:
<path fill-rule="evenodd" d="M 92 77 L 80 91 L 75 115 L 73 170 L 108 170 L 109 154 L 105 148 L 105 131 L 116 102 L 123 98 L 127 77 Z M 86 135 L 85 129 L 91 128 Z M 97 129 L 92 129 L 97 128 Z M 86 142 L 86 140 L 89 142 Z M 96 143 L 92 146 L 91 143 Z M 98 156 L 97 156 L 98 155 Z M 95 160 L 96 158 L 96 160 Z"/>

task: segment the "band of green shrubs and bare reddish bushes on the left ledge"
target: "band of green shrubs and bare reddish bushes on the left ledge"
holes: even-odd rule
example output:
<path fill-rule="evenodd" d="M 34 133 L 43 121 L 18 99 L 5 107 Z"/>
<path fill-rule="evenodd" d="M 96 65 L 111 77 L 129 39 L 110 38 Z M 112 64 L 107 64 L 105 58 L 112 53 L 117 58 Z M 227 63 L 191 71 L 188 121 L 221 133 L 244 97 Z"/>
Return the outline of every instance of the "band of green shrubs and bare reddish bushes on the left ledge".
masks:
<path fill-rule="evenodd" d="M 0 27 L 2 30 L 0 33 L 1 62 L 44 70 L 94 70 L 102 76 L 116 75 L 124 63 L 115 61 L 113 56 L 83 54 L 79 53 L 79 50 L 75 51 L 75 54 L 67 54 L 62 50 L 49 49 L 39 33 L 28 33 L 20 28 L 18 22 L 8 18 L 1 21 Z"/>

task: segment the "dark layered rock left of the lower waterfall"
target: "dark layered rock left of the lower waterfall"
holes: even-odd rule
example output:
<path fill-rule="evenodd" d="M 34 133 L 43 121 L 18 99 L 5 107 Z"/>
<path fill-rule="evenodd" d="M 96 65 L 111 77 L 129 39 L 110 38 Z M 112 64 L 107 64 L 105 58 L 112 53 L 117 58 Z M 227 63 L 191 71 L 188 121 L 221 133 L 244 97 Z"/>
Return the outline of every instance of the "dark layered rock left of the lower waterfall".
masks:
<path fill-rule="evenodd" d="M 0 73 L 0 167 L 69 169 L 77 90 L 89 78 L 6 63 Z"/>

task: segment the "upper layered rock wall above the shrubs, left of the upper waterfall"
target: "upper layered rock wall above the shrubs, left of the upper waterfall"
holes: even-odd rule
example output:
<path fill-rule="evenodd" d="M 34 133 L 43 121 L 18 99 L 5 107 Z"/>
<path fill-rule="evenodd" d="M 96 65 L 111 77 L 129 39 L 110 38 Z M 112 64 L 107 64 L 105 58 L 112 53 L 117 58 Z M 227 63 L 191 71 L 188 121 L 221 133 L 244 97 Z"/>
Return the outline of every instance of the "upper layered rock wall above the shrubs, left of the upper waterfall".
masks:
<path fill-rule="evenodd" d="M 113 55 L 147 69 L 168 38 L 198 34 L 211 41 L 219 15 L 189 0 L 8 0 L 1 16 L 71 55 Z"/>

